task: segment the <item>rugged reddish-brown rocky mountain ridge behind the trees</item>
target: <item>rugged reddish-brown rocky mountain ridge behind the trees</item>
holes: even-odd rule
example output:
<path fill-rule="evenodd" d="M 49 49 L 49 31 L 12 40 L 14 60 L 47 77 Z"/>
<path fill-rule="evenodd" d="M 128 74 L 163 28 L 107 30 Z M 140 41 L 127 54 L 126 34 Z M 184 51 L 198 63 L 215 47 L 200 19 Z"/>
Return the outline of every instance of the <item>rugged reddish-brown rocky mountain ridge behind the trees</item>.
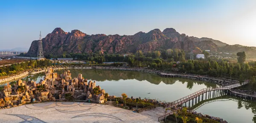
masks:
<path fill-rule="evenodd" d="M 200 43 L 198 38 L 179 34 L 173 28 L 166 28 L 161 32 L 154 29 L 148 33 L 138 32 L 134 35 L 87 35 L 79 30 L 65 32 L 61 28 L 55 28 L 52 33 L 47 34 L 42 39 L 44 55 L 61 55 L 66 53 L 135 53 L 137 50 L 143 52 L 178 48 L 190 51 L 192 48 L 199 47 L 207 49 L 207 43 Z M 197 43 L 195 43 L 197 42 Z M 199 42 L 199 43 L 198 43 Z M 211 42 L 213 43 L 213 42 Z M 214 44 L 214 43 L 213 43 Z M 200 45 L 200 46 L 198 46 Z M 205 46 L 206 45 L 206 46 Z M 214 45 L 215 46 L 215 45 Z M 27 56 L 36 56 L 38 41 L 33 41 Z"/>

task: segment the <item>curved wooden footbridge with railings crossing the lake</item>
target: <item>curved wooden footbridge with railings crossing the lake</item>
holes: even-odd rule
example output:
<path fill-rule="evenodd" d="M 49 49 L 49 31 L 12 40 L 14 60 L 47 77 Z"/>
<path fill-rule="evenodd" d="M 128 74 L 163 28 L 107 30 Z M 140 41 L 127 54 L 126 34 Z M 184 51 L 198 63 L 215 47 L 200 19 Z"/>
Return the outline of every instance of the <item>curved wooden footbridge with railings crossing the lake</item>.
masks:
<path fill-rule="evenodd" d="M 165 119 L 165 117 L 167 117 L 168 115 L 172 115 L 173 112 L 176 111 L 176 110 L 173 110 L 173 111 L 168 110 L 166 113 L 165 110 L 166 110 L 166 108 L 169 108 L 169 107 L 176 108 L 176 106 L 187 106 L 186 105 L 187 103 L 188 103 L 188 107 L 190 107 L 190 103 L 193 106 L 194 104 L 197 104 L 197 102 L 199 102 L 199 101 L 207 100 L 207 98 L 208 99 L 216 98 L 216 97 L 219 97 L 222 95 L 227 95 L 228 93 L 230 95 L 240 95 L 240 96 L 244 96 L 244 97 L 251 97 L 251 99 L 256 98 L 256 95 L 250 95 L 247 93 L 236 92 L 233 90 L 233 88 L 240 87 L 244 84 L 248 84 L 248 81 L 245 81 L 243 84 L 233 84 L 233 85 L 225 86 L 225 87 L 214 87 L 214 88 L 201 89 L 197 92 L 192 93 L 191 95 L 180 98 L 180 99 L 173 101 L 171 103 L 168 103 L 166 105 L 158 104 L 157 106 L 151 106 L 151 107 L 139 109 L 138 112 L 142 115 L 145 115 L 147 117 L 150 117 L 152 119 L 160 121 L 160 120 Z"/>

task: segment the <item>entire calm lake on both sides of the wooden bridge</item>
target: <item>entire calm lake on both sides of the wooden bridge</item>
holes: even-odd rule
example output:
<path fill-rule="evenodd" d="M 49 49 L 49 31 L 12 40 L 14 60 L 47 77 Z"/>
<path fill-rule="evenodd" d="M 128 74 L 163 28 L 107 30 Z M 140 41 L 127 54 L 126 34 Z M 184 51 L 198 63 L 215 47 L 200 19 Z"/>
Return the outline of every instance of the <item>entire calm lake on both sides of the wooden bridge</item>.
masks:
<path fill-rule="evenodd" d="M 79 73 L 88 80 L 96 81 L 109 95 L 121 96 L 126 93 L 128 97 L 151 98 L 158 101 L 172 102 L 200 89 L 218 87 L 217 84 L 183 78 L 161 78 L 150 73 L 126 71 L 101 71 L 88 69 L 69 69 L 72 78 Z M 65 70 L 55 70 L 62 74 Z M 23 78 L 39 82 L 44 78 L 44 73 Z M 13 82 L 14 83 L 14 82 Z M 221 99 L 221 100 L 220 100 Z M 206 100 L 207 101 L 207 100 Z M 206 101 L 202 101 L 204 103 Z M 200 104 L 200 103 L 199 103 Z M 196 107 L 195 111 L 215 117 L 221 117 L 229 123 L 256 123 L 256 103 L 229 95 L 218 97 L 218 101 L 205 103 Z M 255 120 L 256 121 L 256 120 Z"/>

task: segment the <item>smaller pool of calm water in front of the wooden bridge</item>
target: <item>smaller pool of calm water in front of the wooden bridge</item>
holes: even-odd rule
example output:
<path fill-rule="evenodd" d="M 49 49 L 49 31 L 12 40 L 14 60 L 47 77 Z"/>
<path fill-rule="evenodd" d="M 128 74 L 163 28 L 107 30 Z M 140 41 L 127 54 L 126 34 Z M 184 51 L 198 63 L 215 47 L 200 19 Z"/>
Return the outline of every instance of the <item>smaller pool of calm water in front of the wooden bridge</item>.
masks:
<path fill-rule="evenodd" d="M 204 100 L 201 103 L 211 100 Z M 196 104 L 193 108 L 197 112 L 221 117 L 229 123 L 256 123 L 256 101 L 230 95 L 223 95 L 214 100 L 214 102 L 205 103 L 203 106 Z"/>

